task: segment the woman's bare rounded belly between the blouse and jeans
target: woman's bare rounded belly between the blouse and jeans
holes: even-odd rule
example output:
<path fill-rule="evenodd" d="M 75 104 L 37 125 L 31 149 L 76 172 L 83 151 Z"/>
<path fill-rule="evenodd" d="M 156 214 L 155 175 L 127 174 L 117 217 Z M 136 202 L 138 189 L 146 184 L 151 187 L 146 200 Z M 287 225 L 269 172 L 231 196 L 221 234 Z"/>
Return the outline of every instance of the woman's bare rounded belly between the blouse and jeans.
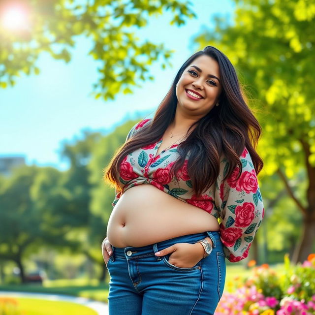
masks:
<path fill-rule="evenodd" d="M 114 247 L 140 247 L 219 228 L 208 212 L 143 184 L 121 195 L 110 215 L 107 237 Z"/>

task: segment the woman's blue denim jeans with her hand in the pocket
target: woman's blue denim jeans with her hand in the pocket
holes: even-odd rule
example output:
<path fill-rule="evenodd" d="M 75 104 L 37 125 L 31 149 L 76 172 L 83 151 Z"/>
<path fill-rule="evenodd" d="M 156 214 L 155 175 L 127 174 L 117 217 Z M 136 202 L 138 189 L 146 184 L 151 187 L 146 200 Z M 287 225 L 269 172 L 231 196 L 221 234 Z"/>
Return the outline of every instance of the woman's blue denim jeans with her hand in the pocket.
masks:
<path fill-rule="evenodd" d="M 170 264 L 170 254 L 154 254 L 175 243 L 194 244 L 207 236 L 213 241 L 213 251 L 191 268 Z M 107 269 L 109 315 L 214 314 L 225 282 L 220 234 L 210 231 L 143 247 L 113 247 Z"/>

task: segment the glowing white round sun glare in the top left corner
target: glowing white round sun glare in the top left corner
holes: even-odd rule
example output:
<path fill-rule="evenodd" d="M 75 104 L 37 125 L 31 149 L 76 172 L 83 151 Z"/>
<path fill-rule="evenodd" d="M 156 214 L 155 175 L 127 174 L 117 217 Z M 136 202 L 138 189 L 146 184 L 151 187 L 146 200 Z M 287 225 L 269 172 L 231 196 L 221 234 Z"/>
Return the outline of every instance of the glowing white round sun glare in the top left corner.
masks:
<path fill-rule="evenodd" d="M 0 22 L 7 30 L 25 30 L 29 26 L 28 12 L 22 6 L 8 5 L 0 13 Z"/>

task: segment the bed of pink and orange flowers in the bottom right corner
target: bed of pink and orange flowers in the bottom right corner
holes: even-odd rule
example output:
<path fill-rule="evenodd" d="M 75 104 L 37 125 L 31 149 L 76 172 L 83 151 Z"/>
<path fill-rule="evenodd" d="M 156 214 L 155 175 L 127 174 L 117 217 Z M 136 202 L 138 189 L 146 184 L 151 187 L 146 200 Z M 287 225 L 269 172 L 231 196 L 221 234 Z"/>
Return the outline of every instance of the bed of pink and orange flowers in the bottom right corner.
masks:
<path fill-rule="evenodd" d="M 223 293 L 215 315 L 315 315 L 315 254 L 294 266 L 286 255 L 281 276 L 267 264 L 253 267 Z"/>

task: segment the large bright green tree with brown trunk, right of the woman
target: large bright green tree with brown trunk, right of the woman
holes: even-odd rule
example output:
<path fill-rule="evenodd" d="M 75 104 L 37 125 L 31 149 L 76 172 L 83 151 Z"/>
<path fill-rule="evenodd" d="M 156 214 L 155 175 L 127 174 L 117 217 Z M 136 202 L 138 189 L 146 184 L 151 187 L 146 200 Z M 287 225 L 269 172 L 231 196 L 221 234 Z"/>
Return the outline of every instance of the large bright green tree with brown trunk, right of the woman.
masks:
<path fill-rule="evenodd" d="M 217 17 L 215 30 L 197 34 L 194 42 L 224 52 L 242 83 L 252 87 L 263 128 L 258 146 L 262 173 L 279 176 L 303 215 L 302 238 L 293 255 L 294 262 L 303 261 L 315 245 L 315 1 L 235 2 L 232 25 Z M 301 170 L 308 181 L 304 195 L 296 193 Z"/>

